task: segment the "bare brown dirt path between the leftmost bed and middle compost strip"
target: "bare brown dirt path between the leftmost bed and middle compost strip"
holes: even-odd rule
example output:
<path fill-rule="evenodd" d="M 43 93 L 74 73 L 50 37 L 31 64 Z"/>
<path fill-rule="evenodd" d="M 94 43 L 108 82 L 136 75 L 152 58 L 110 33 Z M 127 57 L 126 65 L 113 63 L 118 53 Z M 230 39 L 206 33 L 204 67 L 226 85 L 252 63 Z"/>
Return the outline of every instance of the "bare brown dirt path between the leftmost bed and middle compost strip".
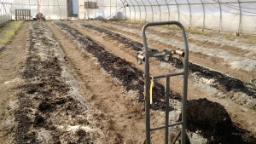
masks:
<path fill-rule="evenodd" d="M 104 115 L 111 118 L 103 120 L 104 128 L 115 131 L 124 142 L 143 142 L 144 121 L 141 115 L 143 105 L 137 103 L 132 92 L 125 92 L 119 82 L 114 81 L 104 72 L 96 60 L 81 47 L 79 48 L 67 34 L 60 32 L 51 23 L 47 24 L 55 33 L 55 37 L 67 54 L 67 59 L 76 70 L 74 73 L 84 89 L 86 100 L 92 107 L 98 108 Z M 116 141 L 116 143 L 119 142 L 121 141 Z"/>

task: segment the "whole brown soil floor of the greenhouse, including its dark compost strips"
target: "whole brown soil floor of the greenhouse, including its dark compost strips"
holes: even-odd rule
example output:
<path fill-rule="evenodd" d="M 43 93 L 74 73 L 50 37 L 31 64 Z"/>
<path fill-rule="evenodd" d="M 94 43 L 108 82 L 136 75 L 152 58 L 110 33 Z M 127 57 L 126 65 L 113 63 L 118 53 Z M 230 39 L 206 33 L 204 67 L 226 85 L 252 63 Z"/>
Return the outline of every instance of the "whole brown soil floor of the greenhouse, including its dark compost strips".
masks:
<path fill-rule="evenodd" d="M 143 143 L 143 66 L 136 60 L 143 45 L 139 35 L 121 31 L 122 26 L 131 32 L 141 28 L 116 21 L 24 22 L 0 53 L 0 143 Z M 162 32 L 160 36 L 167 38 L 165 31 L 160 27 L 149 33 Z M 207 49 L 218 46 L 218 38 L 210 43 L 198 37 L 189 35 L 189 43 L 203 43 L 201 47 Z M 166 46 L 150 43 L 154 51 L 154 46 Z M 223 43 L 221 47 L 229 48 L 232 55 L 253 58 L 247 44 L 232 49 Z M 216 61 L 196 59 L 198 55 L 223 63 L 217 66 Z M 241 70 L 221 57 L 193 50 L 190 57 L 187 125 L 191 143 L 255 143 L 256 88 L 247 83 L 255 77 L 254 58 Z M 182 67 L 177 58 L 153 59 L 150 65 L 153 75 L 178 72 Z M 171 123 L 180 118 L 181 79 L 171 80 Z M 164 80 L 154 80 L 152 127 L 165 124 L 164 85 Z M 164 143 L 164 138 L 164 130 L 152 132 L 153 143 Z"/>

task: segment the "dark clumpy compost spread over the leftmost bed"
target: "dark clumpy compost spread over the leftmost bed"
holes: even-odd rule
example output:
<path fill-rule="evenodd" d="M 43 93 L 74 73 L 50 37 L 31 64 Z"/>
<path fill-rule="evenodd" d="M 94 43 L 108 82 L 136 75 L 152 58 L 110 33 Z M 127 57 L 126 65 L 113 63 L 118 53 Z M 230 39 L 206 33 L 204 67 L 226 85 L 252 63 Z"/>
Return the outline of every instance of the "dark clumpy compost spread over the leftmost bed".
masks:
<path fill-rule="evenodd" d="M 50 131 L 53 143 L 61 143 L 60 136 L 65 132 L 56 129 L 55 122 L 49 120 L 53 112 L 65 112 L 66 115 L 75 115 L 84 111 L 79 107 L 79 102 L 73 97 L 67 95 L 69 87 L 61 78 L 61 65 L 57 57 L 54 56 L 54 45 L 44 36 L 45 29 L 40 28 L 42 23 L 32 22 L 32 29 L 29 30 L 30 46 L 28 49 L 28 58 L 23 72 L 25 84 L 18 87 L 21 89 L 17 95 L 19 99 L 19 108 L 15 112 L 15 130 L 14 142 L 39 144 L 38 131 L 41 129 Z M 47 60 L 41 60 L 38 56 L 36 43 L 48 43 L 46 46 L 48 54 L 51 55 Z M 90 134 L 78 135 L 79 139 L 73 140 L 67 136 L 67 143 L 89 143 Z"/>

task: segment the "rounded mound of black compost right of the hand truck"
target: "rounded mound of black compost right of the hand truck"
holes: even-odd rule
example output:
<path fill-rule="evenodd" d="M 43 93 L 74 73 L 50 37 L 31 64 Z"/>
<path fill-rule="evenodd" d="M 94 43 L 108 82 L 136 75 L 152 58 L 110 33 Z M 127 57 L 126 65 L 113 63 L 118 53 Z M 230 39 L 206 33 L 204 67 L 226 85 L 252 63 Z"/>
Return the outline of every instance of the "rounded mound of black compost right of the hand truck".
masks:
<path fill-rule="evenodd" d="M 187 107 L 187 128 L 201 130 L 210 143 L 226 143 L 231 135 L 232 121 L 229 113 L 217 102 L 206 98 L 191 100 Z"/>

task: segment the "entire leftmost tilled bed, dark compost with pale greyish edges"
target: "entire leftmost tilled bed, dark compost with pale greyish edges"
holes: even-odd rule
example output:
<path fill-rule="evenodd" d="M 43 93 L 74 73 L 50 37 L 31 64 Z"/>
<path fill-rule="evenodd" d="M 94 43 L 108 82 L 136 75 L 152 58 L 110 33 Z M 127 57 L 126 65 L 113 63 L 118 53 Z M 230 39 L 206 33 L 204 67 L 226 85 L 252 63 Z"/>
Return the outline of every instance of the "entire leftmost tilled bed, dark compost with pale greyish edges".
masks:
<path fill-rule="evenodd" d="M 9 134 L 13 140 L 3 143 L 119 143 L 118 135 L 102 131 L 100 119 L 105 116 L 85 103 L 59 43 L 44 23 L 30 23 L 28 44 L 24 83 L 13 88 L 20 91 L 13 110 L 16 126 Z"/>

